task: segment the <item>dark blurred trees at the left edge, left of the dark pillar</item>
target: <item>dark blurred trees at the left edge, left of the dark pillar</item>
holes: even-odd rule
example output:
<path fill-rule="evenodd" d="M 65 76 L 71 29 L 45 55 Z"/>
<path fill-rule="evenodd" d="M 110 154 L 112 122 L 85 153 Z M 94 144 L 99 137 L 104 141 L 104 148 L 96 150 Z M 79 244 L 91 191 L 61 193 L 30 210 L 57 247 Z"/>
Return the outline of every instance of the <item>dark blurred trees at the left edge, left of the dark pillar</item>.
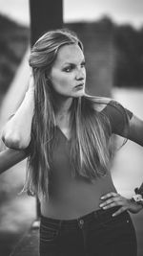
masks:
<path fill-rule="evenodd" d="M 0 35 L 0 96 L 2 98 L 26 52 L 29 29 L 0 15 Z"/>

